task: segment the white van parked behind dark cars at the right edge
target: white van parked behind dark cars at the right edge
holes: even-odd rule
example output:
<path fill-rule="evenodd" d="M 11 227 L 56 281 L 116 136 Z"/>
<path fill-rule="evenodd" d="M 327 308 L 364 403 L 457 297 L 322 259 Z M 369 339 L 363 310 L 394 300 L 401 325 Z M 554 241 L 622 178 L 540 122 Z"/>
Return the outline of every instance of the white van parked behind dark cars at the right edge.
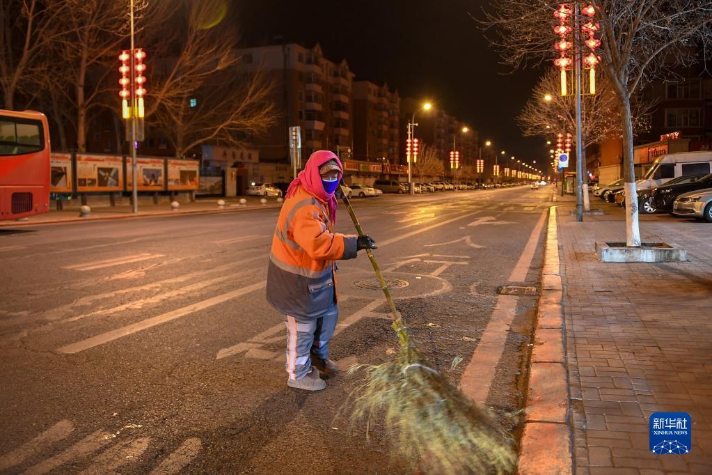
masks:
<path fill-rule="evenodd" d="M 659 187 L 673 178 L 712 171 L 712 152 L 681 152 L 655 159 L 643 179 L 635 182 L 637 189 Z"/>

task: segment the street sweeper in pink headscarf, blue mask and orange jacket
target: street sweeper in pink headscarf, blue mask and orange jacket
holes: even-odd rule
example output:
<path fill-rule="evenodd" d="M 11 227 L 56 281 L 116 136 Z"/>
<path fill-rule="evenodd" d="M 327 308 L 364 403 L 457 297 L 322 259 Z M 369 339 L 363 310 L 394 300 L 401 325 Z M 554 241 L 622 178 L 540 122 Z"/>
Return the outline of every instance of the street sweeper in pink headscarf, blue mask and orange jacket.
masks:
<path fill-rule="evenodd" d="M 329 359 L 339 313 L 334 261 L 376 249 L 369 236 L 334 232 L 342 174 L 333 152 L 314 152 L 287 189 L 272 238 L 267 301 L 287 327 L 287 385 L 302 390 L 323 390 L 319 372 L 339 371 Z"/>

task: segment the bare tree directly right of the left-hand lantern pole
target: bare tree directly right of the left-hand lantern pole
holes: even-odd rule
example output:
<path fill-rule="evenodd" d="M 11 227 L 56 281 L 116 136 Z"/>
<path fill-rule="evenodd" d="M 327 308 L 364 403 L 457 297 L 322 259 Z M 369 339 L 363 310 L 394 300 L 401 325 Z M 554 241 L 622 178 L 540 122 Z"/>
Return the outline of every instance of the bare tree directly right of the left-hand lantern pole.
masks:
<path fill-rule="evenodd" d="M 234 144 L 264 132 L 277 117 L 273 85 L 261 73 L 236 72 L 238 38 L 221 23 L 216 2 L 147 10 L 147 23 L 167 19 L 180 27 L 144 28 L 141 35 L 150 54 L 162 58 L 149 69 L 147 122 L 167 135 L 178 157 L 206 142 Z"/>

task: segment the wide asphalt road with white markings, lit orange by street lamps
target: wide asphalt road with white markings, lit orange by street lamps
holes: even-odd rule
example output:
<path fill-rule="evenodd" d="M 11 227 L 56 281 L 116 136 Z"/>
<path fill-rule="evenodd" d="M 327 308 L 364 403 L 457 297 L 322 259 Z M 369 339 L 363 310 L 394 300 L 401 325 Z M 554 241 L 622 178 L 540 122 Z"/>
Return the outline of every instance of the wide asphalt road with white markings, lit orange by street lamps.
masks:
<path fill-rule="evenodd" d="M 502 305 L 497 288 L 538 285 L 551 194 L 353 200 L 420 348 L 503 411 L 522 407 L 536 301 Z M 367 440 L 348 422 L 358 373 L 286 386 L 283 317 L 264 296 L 277 215 L 0 229 L 0 473 L 412 473 L 378 424 Z M 353 232 L 344 207 L 337 230 Z M 372 279 L 365 254 L 339 263 L 344 367 L 397 348 L 382 294 L 360 286 Z"/>

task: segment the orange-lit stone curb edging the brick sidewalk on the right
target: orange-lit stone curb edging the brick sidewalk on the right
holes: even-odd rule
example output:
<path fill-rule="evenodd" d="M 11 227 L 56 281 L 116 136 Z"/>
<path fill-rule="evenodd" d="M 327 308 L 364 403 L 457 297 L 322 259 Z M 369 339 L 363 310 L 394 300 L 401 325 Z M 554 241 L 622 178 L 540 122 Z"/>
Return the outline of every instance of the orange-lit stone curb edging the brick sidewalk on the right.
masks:
<path fill-rule="evenodd" d="M 518 474 L 570 475 L 572 433 L 556 207 L 549 208 Z"/>

